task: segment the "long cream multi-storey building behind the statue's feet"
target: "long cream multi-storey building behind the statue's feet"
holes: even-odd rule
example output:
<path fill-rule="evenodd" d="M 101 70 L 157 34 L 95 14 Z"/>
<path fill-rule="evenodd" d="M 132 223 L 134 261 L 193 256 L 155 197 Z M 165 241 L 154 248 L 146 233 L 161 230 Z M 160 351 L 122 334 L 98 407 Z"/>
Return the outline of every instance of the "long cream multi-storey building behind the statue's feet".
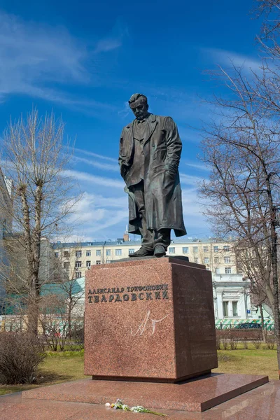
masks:
<path fill-rule="evenodd" d="M 128 237 L 126 238 L 128 239 Z M 128 258 L 141 241 L 124 240 L 54 244 L 55 258 L 69 278 L 85 275 L 95 264 L 108 264 Z M 234 242 L 215 239 L 173 239 L 167 255 L 185 255 L 191 262 L 204 264 L 213 274 L 237 274 Z"/>

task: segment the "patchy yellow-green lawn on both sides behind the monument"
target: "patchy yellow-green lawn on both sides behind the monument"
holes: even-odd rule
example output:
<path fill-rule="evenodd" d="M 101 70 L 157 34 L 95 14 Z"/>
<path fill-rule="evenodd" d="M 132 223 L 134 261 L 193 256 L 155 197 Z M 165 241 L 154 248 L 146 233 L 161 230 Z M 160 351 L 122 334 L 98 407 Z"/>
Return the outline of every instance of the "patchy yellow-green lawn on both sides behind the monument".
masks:
<path fill-rule="evenodd" d="M 218 362 L 219 367 L 213 372 L 267 374 L 269 379 L 278 379 L 276 350 L 219 350 Z M 36 384 L 0 385 L 0 395 L 83 378 L 83 351 L 49 352 L 41 365 Z"/>

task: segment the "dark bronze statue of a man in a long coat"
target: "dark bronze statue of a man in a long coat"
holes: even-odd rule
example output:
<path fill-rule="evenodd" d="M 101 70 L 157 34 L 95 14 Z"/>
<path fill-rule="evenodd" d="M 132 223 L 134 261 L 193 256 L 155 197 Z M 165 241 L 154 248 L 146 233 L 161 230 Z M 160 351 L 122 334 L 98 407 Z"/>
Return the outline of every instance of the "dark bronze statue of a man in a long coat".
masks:
<path fill-rule="evenodd" d="M 186 235 L 183 223 L 179 161 L 182 143 L 171 117 L 148 112 L 144 94 L 129 101 L 136 117 L 120 137 L 120 174 L 129 197 L 129 232 L 141 235 L 139 251 L 130 257 L 162 257 L 176 237 Z"/>

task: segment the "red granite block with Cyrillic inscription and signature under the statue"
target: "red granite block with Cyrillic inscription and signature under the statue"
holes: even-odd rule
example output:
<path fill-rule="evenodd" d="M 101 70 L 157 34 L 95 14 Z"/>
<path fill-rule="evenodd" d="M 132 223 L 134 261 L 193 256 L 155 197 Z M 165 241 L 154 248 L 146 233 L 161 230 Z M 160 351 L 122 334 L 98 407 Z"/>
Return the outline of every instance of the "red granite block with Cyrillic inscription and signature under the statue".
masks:
<path fill-rule="evenodd" d="M 218 366 L 211 272 L 165 257 L 94 265 L 85 283 L 85 374 L 178 382 Z"/>

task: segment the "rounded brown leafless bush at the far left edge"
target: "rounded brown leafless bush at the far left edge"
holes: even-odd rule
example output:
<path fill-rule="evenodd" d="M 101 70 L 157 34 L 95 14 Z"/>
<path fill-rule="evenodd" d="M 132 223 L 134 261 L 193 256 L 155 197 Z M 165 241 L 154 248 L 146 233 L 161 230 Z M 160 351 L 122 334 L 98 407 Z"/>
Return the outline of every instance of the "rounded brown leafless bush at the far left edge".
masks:
<path fill-rule="evenodd" d="M 31 384 L 45 358 L 36 337 L 20 332 L 0 332 L 0 376 L 3 384 Z"/>

